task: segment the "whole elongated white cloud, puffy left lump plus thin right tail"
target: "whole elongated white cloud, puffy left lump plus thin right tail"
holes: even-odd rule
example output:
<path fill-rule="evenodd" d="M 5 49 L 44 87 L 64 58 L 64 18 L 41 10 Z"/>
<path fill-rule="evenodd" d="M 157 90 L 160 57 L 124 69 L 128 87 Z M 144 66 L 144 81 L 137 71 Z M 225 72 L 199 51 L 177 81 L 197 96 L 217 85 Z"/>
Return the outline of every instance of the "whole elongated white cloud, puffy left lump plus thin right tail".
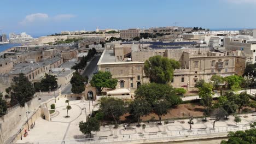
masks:
<path fill-rule="evenodd" d="M 27 15 L 25 19 L 19 23 L 25 26 L 31 23 L 38 23 L 38 22 L 49 21 L 49 20 L 55 20 L 55 21 L 69 20 L 73 17 L 75 17 L 75 15 L 72 15 L 72 14 L 59 14 L 59 15 L 50 17 L 48 16 L 48 14 L 36 13 L 36 14 Z"/>

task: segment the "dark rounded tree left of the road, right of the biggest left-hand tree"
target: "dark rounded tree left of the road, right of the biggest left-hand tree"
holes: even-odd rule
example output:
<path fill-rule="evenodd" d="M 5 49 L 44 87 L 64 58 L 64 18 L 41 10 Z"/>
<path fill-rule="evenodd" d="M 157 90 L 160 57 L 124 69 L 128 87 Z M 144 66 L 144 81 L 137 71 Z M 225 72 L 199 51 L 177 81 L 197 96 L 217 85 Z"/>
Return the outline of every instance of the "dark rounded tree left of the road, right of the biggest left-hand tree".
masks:
<path fill-rule="evenodd" d="M 57 76 L 45 74 L 44 78 L 40 81 L 40 90 L 42 92 L 47 92 L 49 89 L 57 88 Z"/>

